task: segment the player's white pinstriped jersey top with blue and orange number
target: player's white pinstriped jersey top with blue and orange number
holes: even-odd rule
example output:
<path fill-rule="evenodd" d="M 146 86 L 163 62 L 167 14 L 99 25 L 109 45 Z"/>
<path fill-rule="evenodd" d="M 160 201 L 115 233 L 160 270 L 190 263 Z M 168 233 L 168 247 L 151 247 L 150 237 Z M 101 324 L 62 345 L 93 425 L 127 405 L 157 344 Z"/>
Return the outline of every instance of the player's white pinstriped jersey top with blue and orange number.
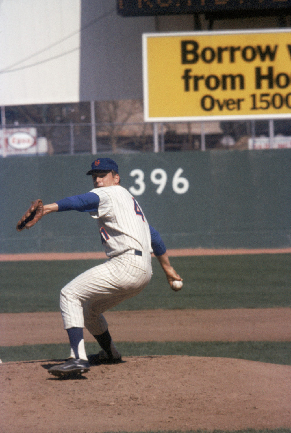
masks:
<path fill-rule="evenodd" d="M 120 185 L 91 190 L 100 198 L 98 212 L 99 231 L 108 257 L 130 249 L 152 252 L 150 228 L 141 207 L 134 197 Z"/>

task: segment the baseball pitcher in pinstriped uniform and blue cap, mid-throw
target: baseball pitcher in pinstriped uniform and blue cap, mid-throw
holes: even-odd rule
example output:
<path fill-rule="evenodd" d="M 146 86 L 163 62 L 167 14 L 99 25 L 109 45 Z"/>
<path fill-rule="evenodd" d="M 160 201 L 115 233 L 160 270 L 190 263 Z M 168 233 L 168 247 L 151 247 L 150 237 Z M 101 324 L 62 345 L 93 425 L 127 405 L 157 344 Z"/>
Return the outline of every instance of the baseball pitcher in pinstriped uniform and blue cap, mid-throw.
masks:
<path fill-rule="evenodd" d="M 74 278 L 61 290 L 60 309 L 68 332 L 69 359 L 49 368 L 56 376 L 88 372 L 90 365 L 122 362 L 103 313 L 140 293 L 152 276 L 151 253 L 157 256 L 171 288 L 182 287 L 182 278 L 170 265 L 160 234 L 151 227 L 137 200 L 120 185 L 118 165 L 98 158 L 87 172 L 94 188 L 85 194 L 43 205 L 35 200 L 18 222 L 18 231 L 32 227 L 52 212 L 77 210 L 95 218 L 108 260 Z M 101 352 L 86 355 L 83 328 L 95 337 Z"/>

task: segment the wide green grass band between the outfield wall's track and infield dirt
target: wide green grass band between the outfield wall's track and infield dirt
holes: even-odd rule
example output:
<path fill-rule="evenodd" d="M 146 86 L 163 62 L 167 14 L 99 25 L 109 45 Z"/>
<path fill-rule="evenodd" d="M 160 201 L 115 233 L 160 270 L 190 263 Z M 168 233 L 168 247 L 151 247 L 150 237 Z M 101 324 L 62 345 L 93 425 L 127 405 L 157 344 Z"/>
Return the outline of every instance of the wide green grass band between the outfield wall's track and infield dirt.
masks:
<path fill-rule="evenodd" d="M 0 313 L 58 311 L 59 292 L 103 260 L 0 262 Z M 291 254 L 172 257 L 183 289 L 170 290 L 157 259 L 147 288 L 114 310 L 291 307 Z"/>

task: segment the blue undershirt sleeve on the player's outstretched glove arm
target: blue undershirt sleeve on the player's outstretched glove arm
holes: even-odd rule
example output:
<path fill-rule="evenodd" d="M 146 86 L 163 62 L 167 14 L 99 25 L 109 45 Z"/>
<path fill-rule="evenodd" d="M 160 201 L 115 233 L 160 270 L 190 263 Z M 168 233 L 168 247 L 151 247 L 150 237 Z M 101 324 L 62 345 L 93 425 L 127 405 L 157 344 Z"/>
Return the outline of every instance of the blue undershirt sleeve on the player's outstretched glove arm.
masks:
<path fill-rule="evenodd" d="M 71 197 L 62 198 L 57 201 L 59 206 L 58 212 L 64 210 L 78 210 L 79 212 L 97 212 L 99 204 L 99 196 L 94 192 L 85 194 L 73 195 Z"/>

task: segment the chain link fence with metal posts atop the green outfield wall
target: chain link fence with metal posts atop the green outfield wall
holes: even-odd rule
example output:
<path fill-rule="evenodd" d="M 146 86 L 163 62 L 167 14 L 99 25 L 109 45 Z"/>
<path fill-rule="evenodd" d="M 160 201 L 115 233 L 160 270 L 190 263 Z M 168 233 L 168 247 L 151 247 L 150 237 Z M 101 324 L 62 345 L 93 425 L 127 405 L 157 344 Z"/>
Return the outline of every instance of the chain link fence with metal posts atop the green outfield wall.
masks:
<path fill-rule="evenodd" d="M 32 130 L 34 138 L 29 145 L 27 137 Z M 2 156 L 270 148 L 291 148 L 290 120 L 25 123 L 0 129 Z"/>

